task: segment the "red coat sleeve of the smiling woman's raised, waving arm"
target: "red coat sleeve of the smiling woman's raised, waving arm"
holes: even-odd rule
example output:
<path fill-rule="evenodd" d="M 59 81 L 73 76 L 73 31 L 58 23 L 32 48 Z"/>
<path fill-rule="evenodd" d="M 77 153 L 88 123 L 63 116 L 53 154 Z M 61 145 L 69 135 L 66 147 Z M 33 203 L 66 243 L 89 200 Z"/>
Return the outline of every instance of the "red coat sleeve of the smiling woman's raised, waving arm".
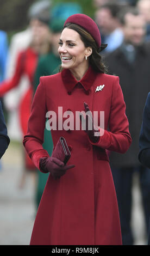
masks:
<path fill-rule="evenodd" d="M 132 138 L 129 133 L 129 123 L 126 116 L 126 104 L 123 99 L 119 78 L 114 76 L 112 85 L 111 109 L 109 115 L 109 131 L 99 127 L 101 136 L 97 143 L 92 143 L 103 149 L 126 153 Z"/>

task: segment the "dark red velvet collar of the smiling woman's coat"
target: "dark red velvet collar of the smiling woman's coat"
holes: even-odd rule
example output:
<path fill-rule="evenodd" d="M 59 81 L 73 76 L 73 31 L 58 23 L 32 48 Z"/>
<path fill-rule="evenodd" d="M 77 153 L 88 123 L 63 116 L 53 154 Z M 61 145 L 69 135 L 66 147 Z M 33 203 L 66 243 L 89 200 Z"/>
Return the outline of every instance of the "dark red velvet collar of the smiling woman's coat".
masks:
<path fill-rule="evenodd" d="M 84 87 L 84 89 L 87 91 L 91 88 L 93 82 L 96 78 L 96 72 L 89 67 L 89 69 L 86 71 L 86 74 L 84 77 L 77 81 L 76 78 L 71 74 L 71 71 L 69 69 L 64 69 L 61 71 L 61 77 L 62 81 L 64 83 L 64 86 L 66 87 L 67 92 L 72 92 L 73 88 L 76 86 L 76 84 L 80 83 Z"/>

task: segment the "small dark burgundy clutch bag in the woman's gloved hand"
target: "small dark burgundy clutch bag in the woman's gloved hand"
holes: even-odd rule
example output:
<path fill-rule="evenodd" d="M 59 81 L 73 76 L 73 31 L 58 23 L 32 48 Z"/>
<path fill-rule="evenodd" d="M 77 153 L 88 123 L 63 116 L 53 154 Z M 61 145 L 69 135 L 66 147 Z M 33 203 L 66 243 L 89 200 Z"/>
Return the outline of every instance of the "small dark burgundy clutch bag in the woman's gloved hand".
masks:
<path fill-rule="evenodd" d="M 60 161 L 64 162 L 65 164 L 71 157 L 70 150 L 68 149 L 68 145 L 64 137 L 60 137 L 58 143 L 56 144 L 53 154 L 53 157 L 56 157 Z"/>

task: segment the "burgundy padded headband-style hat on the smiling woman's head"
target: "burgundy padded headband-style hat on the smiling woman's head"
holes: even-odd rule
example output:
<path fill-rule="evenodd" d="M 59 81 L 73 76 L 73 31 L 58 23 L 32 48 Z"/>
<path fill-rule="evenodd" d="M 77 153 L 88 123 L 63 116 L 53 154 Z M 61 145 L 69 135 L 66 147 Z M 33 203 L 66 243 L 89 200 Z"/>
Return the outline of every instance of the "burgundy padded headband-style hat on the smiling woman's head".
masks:
<path fill-rule="evenodd" d="M 95 21 L 93 21 L 91 17 L 85 14 L 73 14 L 67 18 L 67 20 L 64 23 L 64 27 L 68 22 L 74 23 L 79 25 L 80 27 L 83 27 L 93 37 L 93 39 L 95 39 L 96 44 L 101 51 L 105 47 L 107 47 L 107 44 L 101 44 L 101 34 L 99 32 L 99 29 Z"/>

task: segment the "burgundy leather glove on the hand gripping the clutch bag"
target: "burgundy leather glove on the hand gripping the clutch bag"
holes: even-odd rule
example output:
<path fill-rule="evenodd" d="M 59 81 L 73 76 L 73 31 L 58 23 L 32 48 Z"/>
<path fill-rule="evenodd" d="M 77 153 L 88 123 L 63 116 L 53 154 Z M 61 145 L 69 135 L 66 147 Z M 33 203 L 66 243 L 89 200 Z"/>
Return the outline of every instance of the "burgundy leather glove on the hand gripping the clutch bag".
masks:
<path fill-rule="evenodd" d="M 73 168 L 74 165 L 65 165 L 56 157 L 41 157 L 40 159 L 40 169 L 43 172 L 50 172 L 54 179 L 60 178 L 66 173 L 66 170 Z"/>

